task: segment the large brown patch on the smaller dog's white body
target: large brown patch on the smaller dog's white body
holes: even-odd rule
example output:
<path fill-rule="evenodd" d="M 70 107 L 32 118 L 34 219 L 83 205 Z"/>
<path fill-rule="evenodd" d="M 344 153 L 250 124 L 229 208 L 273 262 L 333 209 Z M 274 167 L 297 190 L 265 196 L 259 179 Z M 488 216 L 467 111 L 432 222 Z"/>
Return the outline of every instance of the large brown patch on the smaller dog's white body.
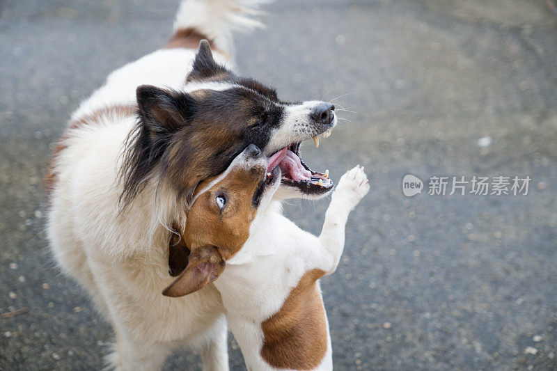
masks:
<path fill-rule="evenodd" d="M 276 368 L 311 370 L 327 352 L 327 322 L 317 279 L 325 274 L 312 269 L 301 276 L 281 307 L 261 324 L 265 340 L 262 358 Z"/>

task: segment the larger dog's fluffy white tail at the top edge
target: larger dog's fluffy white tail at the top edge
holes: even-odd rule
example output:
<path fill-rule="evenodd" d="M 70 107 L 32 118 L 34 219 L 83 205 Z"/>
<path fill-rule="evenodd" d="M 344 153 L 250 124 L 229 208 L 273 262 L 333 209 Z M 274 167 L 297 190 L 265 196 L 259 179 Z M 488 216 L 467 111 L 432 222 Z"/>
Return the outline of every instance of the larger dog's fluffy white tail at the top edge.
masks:
<path fill-rule="evenodd" d="M 250 16 L 258 15 L 260 3 L 269 0 L 184 0 L 176 14 L 174 31 L 196 29 L 214 45 L 234 53 L 233 31 L 249 31 L 264 25 Z"/>

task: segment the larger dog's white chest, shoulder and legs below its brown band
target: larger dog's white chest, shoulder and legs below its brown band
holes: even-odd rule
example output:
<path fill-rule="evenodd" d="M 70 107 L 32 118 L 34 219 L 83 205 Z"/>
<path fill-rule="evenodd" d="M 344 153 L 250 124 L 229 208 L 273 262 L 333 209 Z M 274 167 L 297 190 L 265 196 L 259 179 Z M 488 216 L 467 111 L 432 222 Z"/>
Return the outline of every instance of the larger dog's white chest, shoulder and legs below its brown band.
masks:
<path fill-rule="evenodd" d="M 177 214 L 166 191 L 145 189 L 118 215 L 117 159 L 129 123 L 80 129 L 56 166 L 48 237 L 63 270 L 86 290 L 116 331 L 122 370 L 160 368 L 180 345 L 219 349 L 207 367 L 227 364 L 226 322 L 209 285 L 184 298 L 161 292 L 170 284 L 168 232 Z M 222 370 L 223 368 L 218 368 Z"/>

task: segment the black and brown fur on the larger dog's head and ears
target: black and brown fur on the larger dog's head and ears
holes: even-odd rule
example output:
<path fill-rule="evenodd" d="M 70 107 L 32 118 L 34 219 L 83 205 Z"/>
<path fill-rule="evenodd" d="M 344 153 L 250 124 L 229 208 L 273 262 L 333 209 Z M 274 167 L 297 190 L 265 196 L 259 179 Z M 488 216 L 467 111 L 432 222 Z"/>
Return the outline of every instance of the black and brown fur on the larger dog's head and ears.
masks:
<path fill-rule="evenodd" d="M 120 171 L 124 207 L 148 177 L 166 181 L 179 202 L 189 202 L 199 182 L 226 170 L 247 145 L 264 150 L 281 122 L 284 109 L 276 91 L 218 65 L 207 40 L 200 42 L 187 81 L 223 81 L 236 87 L 191 94 L 155 86 L 137 89 L 138 123 L 125 143 Z"/>

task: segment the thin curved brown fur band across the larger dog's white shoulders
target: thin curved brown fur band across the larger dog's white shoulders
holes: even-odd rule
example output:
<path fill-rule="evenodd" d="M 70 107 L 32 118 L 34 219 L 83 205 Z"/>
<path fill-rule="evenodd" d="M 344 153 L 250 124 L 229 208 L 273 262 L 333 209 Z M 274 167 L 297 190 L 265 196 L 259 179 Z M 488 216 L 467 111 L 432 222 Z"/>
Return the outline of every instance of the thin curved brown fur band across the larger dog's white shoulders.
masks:
<path fill-rule="evenodd" d="M 71 121 L 68 127 L 66 127 L 61 139 L 59 139 L 58 142 L 56 142 L 56 145 L 54 145 L 54 150 L 52 150 L 52 155 L 50 156 L 49 166 L 47 168 L 47 172 L 45 173 L 44 179 L 45 191 L 47 193 L 47 196 L 52 194 L 54 187 L 56 187 L 56 181 L 58 180 L 58 174 L 56 173 L 56 159 L 58 159 L 58 156 L 63 150 L 68 148 L 68 145 L 65 142 L 70 139 L 73 130 L 79 129 L 86 125 L 98 124 L 102 121 L 102 119 L 107 118 L 107 116 L 131 116 L 134 115 L 136 111 L 137 106 L 134 106 L 132 104 L 118 104 L 107 106 L 102 109 L 97 109 L 97 111 L 94 111 L 89 115 Z"/>

